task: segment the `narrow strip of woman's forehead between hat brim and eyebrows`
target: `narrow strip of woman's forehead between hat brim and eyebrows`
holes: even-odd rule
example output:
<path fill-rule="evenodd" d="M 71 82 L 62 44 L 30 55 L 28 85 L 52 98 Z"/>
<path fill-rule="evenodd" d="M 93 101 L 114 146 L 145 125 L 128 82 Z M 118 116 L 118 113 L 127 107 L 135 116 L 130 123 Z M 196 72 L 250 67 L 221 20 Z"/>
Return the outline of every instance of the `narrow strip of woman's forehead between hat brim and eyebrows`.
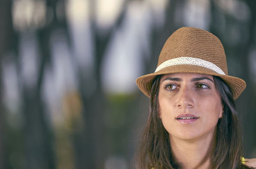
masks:
<path fill-rule="evenodd" d="M 172 77 L 172 78 L 200 78 L 200 77 L 207 77 L 207 78 L 210 78 L 211 80 L 213 80 L 213 77 L 212 75 L 205 75 L 205 74 L 200 74 L 200 73 L 170 73 L 170 74 L 166 74 L 166 75 L 163 75 L 162 79 L 163 78 L 166 78 L 166 77 Z"/>

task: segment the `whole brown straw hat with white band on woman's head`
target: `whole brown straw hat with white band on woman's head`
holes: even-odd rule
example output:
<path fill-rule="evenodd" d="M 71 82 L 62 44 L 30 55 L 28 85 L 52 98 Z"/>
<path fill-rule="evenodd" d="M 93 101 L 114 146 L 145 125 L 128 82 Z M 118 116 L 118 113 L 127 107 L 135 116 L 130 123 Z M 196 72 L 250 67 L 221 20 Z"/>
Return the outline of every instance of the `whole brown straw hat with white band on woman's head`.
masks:
<path fill-rule="evenodd" d="M 164 43 L 156 71 L 136 80 L 148 97 L 156 75 L 169 73 L 201 73 L 221 77 L 230 87 L 234 99 L 244 91 L 241 78 L 228 76 L 227 60 L 221 41 L 214 34 L 195 27 L 181 27 Z"/>

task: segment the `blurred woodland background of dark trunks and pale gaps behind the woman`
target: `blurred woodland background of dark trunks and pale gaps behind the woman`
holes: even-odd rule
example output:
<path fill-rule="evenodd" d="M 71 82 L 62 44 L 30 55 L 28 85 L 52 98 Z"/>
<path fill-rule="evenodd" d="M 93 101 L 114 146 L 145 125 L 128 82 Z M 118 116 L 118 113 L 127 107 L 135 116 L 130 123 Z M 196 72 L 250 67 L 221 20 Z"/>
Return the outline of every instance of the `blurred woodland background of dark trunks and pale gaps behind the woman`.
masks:
<path fill-rule="evenodd" d="M 164 41 L 193 26 L 223 42 L 246 158 L 256 158 L 256 1 L 1 0 L 0 169 L 130 169 L 147 121 L 136 87 Z"/>

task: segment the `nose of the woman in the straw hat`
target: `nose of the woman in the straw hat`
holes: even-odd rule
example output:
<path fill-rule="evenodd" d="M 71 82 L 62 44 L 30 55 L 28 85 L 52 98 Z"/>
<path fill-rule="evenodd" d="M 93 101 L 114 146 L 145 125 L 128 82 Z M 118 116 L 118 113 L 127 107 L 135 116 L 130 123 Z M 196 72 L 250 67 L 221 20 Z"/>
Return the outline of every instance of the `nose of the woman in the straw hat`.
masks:
<path fill-rule="evenodd" d="M 176 106 L 179 108 L 192 108 L 195 106 L 193 91 L 188 87 L 182 87 L 177 94 Z"/>

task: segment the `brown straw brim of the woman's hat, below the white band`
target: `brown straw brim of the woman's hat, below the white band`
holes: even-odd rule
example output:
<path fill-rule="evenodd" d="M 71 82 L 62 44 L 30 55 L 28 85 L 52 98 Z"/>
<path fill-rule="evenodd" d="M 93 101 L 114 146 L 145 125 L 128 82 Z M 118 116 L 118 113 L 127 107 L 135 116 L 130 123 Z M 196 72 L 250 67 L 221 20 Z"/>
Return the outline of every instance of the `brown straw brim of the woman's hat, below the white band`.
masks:
<path fill-rule="evenodd" d="M 189 65 L 189 64 L 180 64 L 175 66 L 169 66 L 163 68 L 163 70 L 157 71 L 155 73 L 150 73 L 148 75 L 143 75 L 136 79 L 136 84 L 143 94 L 150 98 L 150 91 L 152 88 L 152 82 L 157 75 L 166 75 L 170 73 L 200 73 L 205 75 L 213 75 L 216 77 L 222 78 L 227 85 L 230 87 L 234 99 L 237 99 L 238 96 L 244 91 L 246 87 L 246 82 L 243 79 L 232 77 L 229 75 L 220 75 L 215 71 L 209 70 L 201 66 Z"/>

